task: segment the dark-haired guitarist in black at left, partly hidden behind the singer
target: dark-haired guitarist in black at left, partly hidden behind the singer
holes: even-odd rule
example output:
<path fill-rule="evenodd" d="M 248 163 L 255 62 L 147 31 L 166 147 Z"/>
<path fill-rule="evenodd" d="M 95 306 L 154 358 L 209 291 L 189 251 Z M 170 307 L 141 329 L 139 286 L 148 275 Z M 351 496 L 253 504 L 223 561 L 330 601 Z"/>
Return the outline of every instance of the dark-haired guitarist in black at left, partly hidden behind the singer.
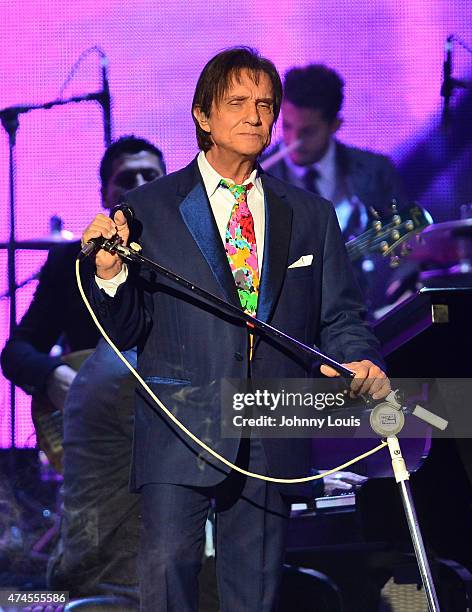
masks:
<path fill-rule="evenodd" d="M 112 208 L 125 191 L 164 174 L 158 148 L 134 136 L 120 138 L 100 165 L 103 207 Z M 65 406 L 62 537 L 50 561 L 49 586 L 71 596 L 135 594 L 140 518 L 138 497 L 128 492 L 128 370 L 103 341 L 77 377 L 49 354 L 59 339 L 68 351 L 93 349 L 99 339 L 76 284 L 79 250 L 78 241 L 51 249 L 33 301 L 2 352 L 2 368 L 51 410 Z M 136 359 L 134 351 L 128 359 Z"/>

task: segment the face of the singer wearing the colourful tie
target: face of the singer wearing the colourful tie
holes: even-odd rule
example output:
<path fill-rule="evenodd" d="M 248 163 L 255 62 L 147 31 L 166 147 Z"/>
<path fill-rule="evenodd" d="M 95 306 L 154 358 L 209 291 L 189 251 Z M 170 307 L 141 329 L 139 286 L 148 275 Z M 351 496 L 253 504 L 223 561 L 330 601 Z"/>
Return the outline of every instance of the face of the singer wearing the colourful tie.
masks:
<path fill-rule="evenodd" d="M 209 117 L 195 109 L 200 126 L 210 132 L 210 155 L 226 158 L 256 158 L 270 143 L 274 123 L 274 92 L 270 78 L 259 73 L 258 83 L 247 71 L 233 78 L 219 102 L 213 102 Z"/>

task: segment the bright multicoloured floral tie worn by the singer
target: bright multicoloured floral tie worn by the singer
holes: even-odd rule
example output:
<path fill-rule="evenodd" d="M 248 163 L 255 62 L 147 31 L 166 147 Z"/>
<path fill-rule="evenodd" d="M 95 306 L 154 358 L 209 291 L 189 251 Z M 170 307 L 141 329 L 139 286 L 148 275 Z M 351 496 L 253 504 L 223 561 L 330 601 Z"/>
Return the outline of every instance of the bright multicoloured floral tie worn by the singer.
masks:
<path fill-rule="evenodd" d="M 220 185 L 229 189 L 236 200 L 226 228 L 226 255 L 241 306 L 244 312 L 255 316 L 259 296 L 259 264 L 254 219 L 247 205 L 247 192 L 253 185 L 235 185 L 224 179 L 220 181 Z"/>

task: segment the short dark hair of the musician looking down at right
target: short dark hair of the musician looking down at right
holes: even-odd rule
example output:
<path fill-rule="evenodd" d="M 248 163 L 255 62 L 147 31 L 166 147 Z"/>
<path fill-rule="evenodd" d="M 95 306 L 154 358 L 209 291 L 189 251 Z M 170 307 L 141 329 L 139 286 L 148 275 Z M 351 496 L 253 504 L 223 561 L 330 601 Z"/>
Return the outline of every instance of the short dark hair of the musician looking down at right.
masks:
<path fill-rule="evenodd" d="M 301 108 L 320 110 L 325 121 L 336 119 L 344 100 L 344 81 L 323 64 L 291 68 L 285 73 L 284 99 Z"/>

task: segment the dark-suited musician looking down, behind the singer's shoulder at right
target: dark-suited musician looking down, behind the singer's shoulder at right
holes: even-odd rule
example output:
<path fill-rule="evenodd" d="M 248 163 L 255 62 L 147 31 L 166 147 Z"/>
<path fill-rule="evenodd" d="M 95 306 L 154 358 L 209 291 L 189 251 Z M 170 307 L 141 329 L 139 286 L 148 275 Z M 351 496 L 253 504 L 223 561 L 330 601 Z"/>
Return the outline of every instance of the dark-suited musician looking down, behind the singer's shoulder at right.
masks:
<path fill-rule="evenodd" d="M 291 150 L 268 172 L 332 201 L 348 241 L 366 230 L 372 209 L 386 213 L 392 198 L 404 202 L 404 193 L 389 158 L 338 140 L 343 101 L 344 81 L 332 68 L 291 68 L 285 74 L 281 111 L 283 144 Z M 293 148 L 297 141 L 300 144 Z M 279 143 L 268 156 L 281 148 Z M 369 257 L 358 268 L 357 279 L 373 311 L 386 302 L 388 263 Z"/>

